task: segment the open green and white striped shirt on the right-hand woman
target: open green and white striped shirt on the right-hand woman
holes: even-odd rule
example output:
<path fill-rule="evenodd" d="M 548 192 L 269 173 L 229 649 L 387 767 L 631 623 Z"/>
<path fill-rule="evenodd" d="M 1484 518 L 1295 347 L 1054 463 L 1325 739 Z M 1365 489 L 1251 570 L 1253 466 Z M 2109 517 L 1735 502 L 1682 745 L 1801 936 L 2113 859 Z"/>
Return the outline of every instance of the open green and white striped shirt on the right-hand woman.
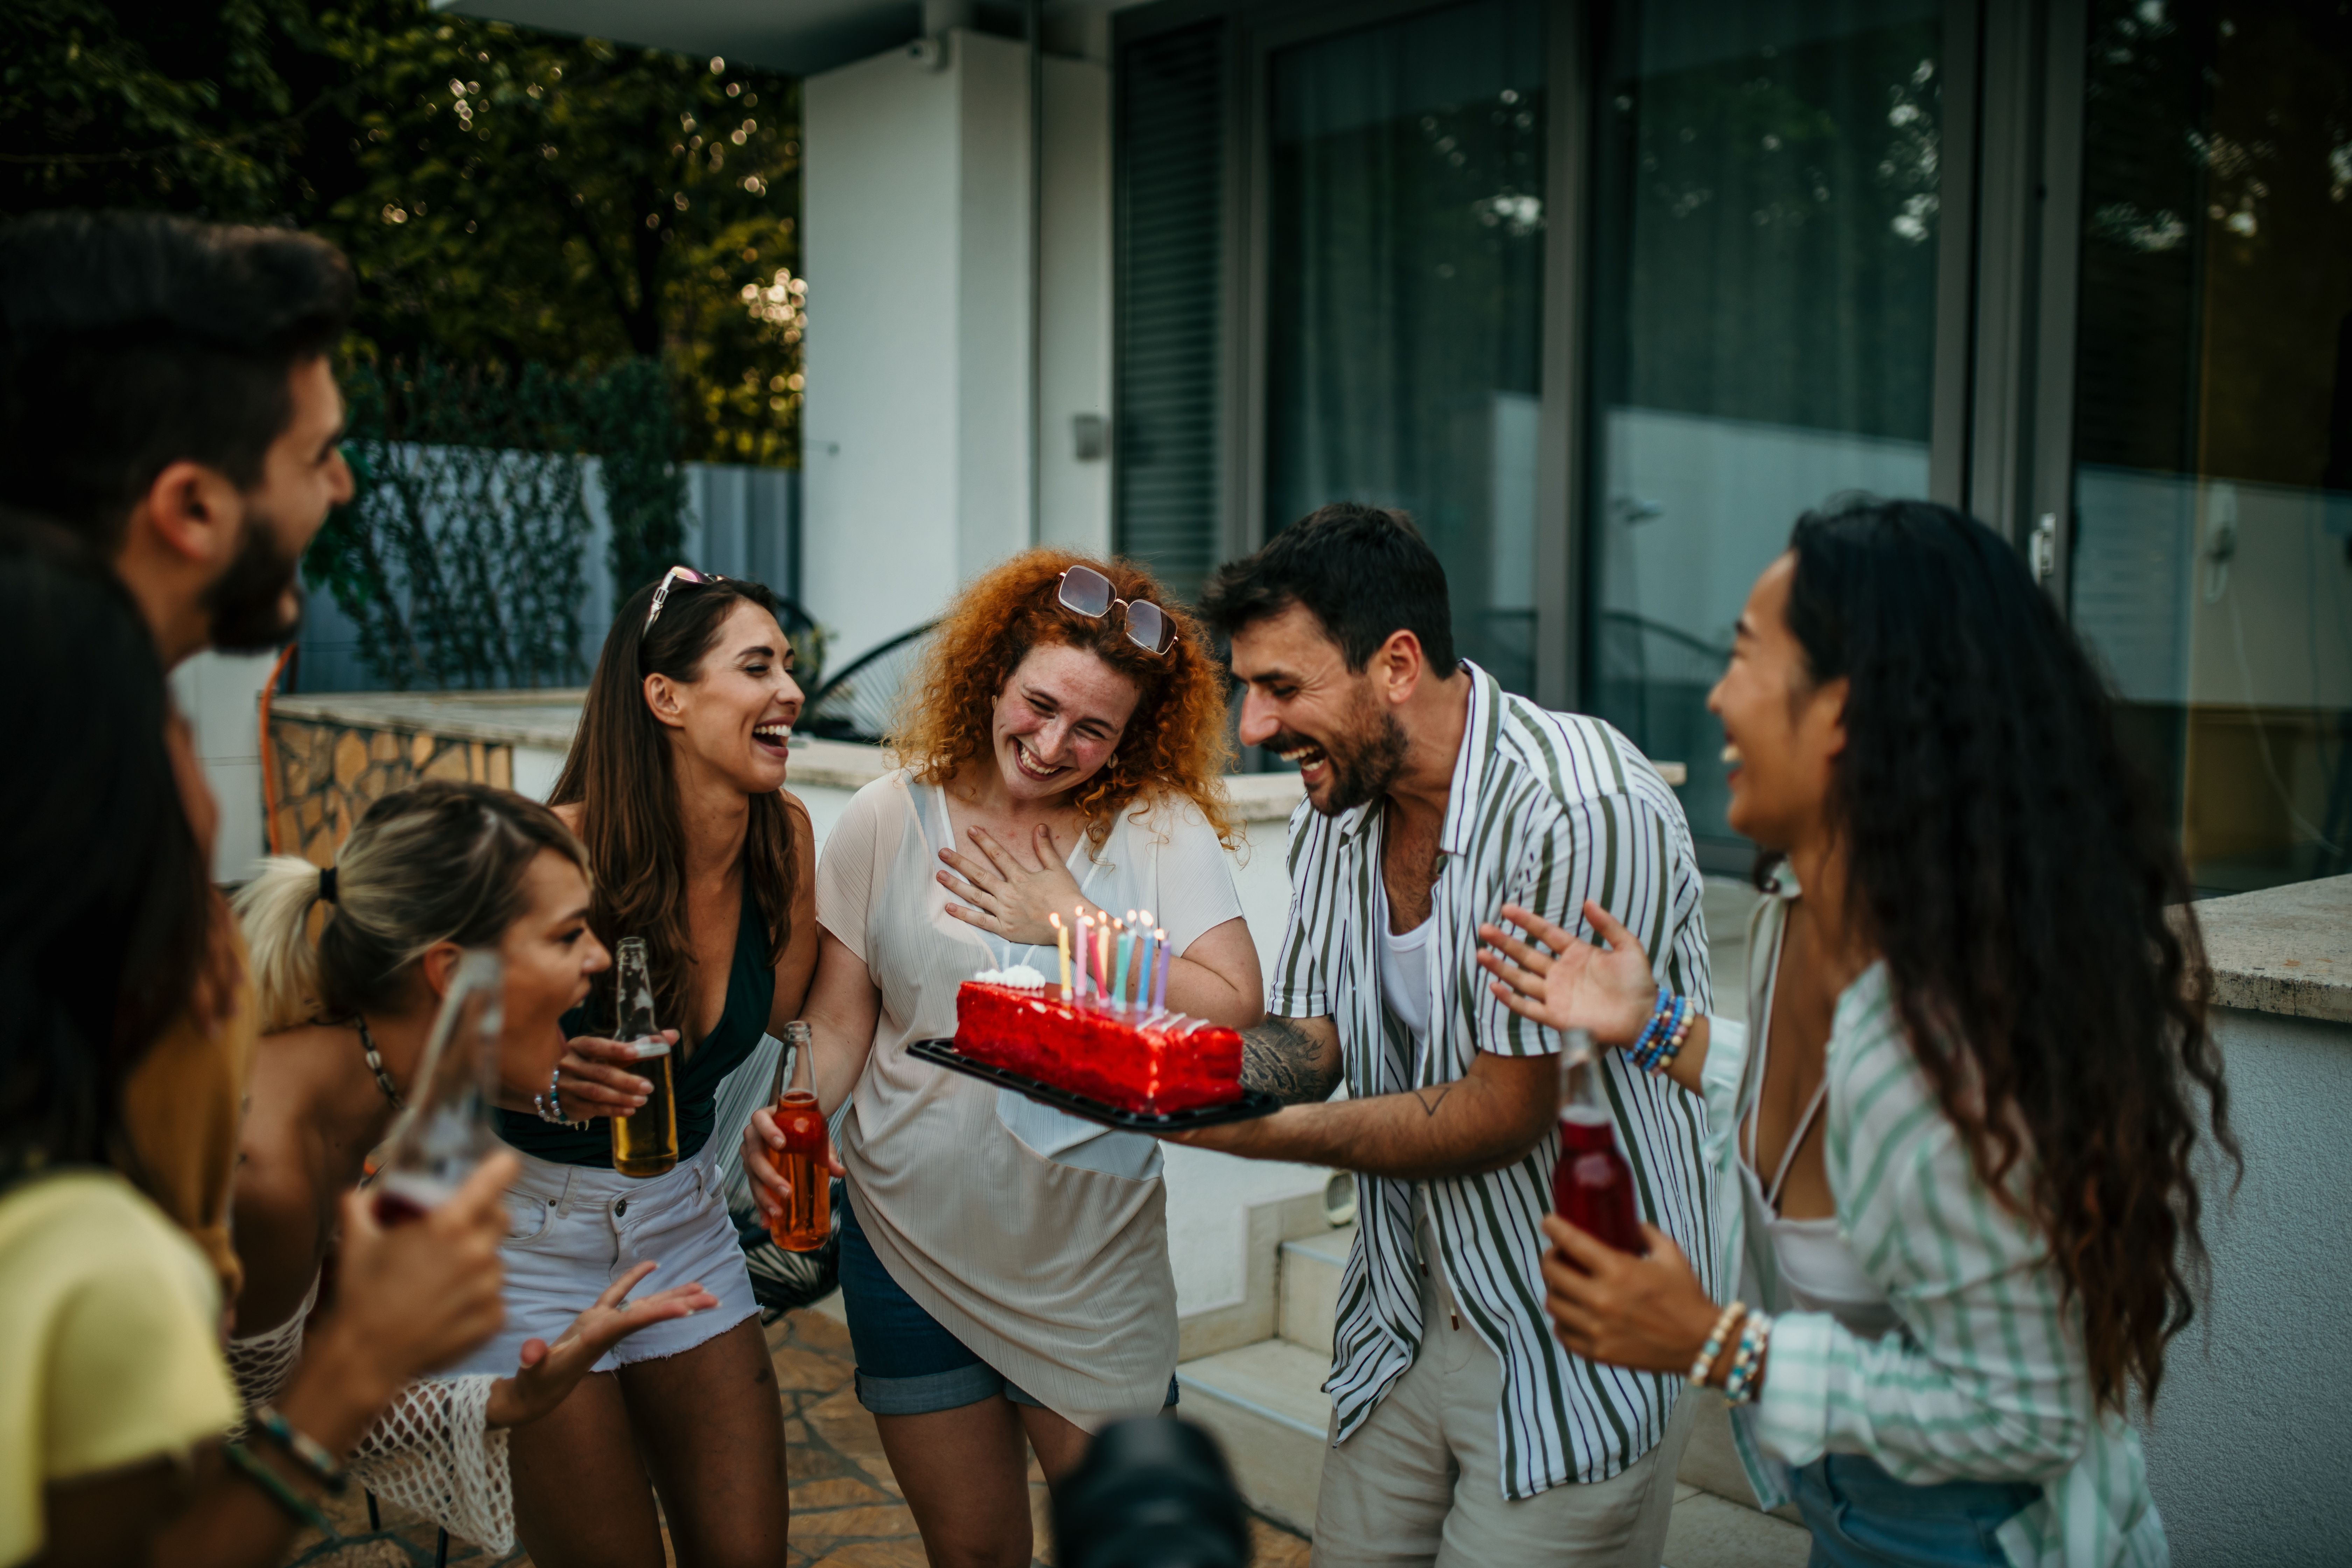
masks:
<path fill-rule="evenodd" d="M 1750 919 L 1752 1020 L 1764 1018 L 1792 896 L 1783 879 Z M 1886 964 L 1837 999 L 1825 1072 L 1837 1227 L 1903 1333 L 1860 1340 L 1825 1312 L 1773 1321 L 1764 1394 L 1733 1410 L 1757 1500 L 1788 1500 L 1788 1467 L 1858 1453 L 1898 1481 L 2039 1481 L 2042 1500 L 1999 1528 L 2016 1568 L 2166 1563 L 2140 1439 L 2091 1401 L 2082 1309 L 2065 1305 L 2039 1232 L 1976 1175 L 1903 1034 Z M 1752 1093 L 1745 1025 L 1710 1020 L 1708 1159 L 1726 1194 L 1738 1192 L 1731 1161 Z M 1748 1255 L 1738 1201 L 1726 1199 L 1717 1234 L 1717 1279 L 1740 1279 L 1759 1300 L 1755 1281 L 1773 1267 Z"/>

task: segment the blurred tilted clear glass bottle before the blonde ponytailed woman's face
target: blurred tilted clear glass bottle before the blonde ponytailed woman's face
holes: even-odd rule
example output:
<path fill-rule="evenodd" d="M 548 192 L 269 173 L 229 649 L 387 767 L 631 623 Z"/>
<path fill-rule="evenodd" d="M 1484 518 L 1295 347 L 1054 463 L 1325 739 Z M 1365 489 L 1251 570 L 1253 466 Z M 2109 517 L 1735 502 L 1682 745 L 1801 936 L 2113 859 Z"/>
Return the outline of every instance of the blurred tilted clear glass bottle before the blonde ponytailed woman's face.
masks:
<path fill-rule="evenodd" d="M 426 1034 L 409 1103 L 386 1138 L 374 1182 L 381 1225 L 405 1225 L 440 1208 L 496 1147 L 489 1110 L 503 1027 L 506 964 L 487 950 L 463 954 Z"/>

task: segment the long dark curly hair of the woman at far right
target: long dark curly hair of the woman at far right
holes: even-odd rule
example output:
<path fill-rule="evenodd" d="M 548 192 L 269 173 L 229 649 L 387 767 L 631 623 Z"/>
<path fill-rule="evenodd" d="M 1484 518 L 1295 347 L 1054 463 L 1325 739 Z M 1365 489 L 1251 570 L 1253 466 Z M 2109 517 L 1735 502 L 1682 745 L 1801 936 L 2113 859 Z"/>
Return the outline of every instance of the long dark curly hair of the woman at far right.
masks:
<path fill-rule="evenodd" d="M 2237 1157 L 2180 851 L 2009 541 L 1849 498 L 1790 552 L 1806 675 L 1849 682 L 1846 907 L 1976 1173 L 2082 1305 L 2091 1394 L 2152 1406 L 2206 1267 L 2199 1143 Z"/>

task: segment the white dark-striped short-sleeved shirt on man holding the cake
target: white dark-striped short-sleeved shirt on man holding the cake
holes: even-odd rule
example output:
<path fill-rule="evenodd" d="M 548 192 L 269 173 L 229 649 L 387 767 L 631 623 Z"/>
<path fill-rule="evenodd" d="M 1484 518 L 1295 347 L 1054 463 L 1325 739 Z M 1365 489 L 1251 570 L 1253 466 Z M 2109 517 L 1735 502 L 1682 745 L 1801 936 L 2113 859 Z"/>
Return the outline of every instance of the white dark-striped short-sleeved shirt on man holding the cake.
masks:
<path fill-rule="evenodd" d="M 1710 1001 L 1698 858 L 1682 802 L 1649 759 L 1599 719 L 1548 712 L 1463 661 L 1470 715 L 1430 889 L 1430 1037 L 1411 1034 L 1381 997 L 1381 804 L 1291 813 L 1291 922 L 1265 1011 L 1338 1025 L 1350 1095 L 1451 1084 L 1479 1051 L 1557 1053 L 1562 1037 L 1519 1018 L 1484 985 L 1477 922 L 1505 903 L 1578 936 L 1590 898 L 1616 914 L 1658 980 Z M 1642 1218 L 1658 1225 L 1715 1288 L 1712 1175 L 1705 1110 L 1665 1079 L 1604 1053 L 1618 1140 Z M 1543 1232 L 1559 1135 L 1484 1175 L 1423 1182 L 1428 1215 L 1463 1316 L 1503 1363 L 1496 1408 L 1503 1495 L 1604 1481 L 1665 1434 L 1679 1378 L 1571 1356 L 1543 1314 Z M 1355 1434 L 1421 1349 L 1414 1182 L 1359 1182 L 1357 1239 L 1341 1279 L 1331 1380 L 1338 1441 Z"/>

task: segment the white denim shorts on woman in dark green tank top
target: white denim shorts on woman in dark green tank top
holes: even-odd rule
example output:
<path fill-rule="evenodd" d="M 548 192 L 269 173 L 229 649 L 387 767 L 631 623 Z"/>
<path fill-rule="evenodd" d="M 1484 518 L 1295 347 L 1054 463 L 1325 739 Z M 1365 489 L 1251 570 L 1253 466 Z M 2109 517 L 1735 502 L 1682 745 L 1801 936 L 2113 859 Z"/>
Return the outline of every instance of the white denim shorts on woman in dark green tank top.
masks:
<path fill-rule="evenodd" d="M 506 1265 L 506 1326 L 452 1371 L 510 1375 L 524 1340 L 560 1340 L 572 1319 L 647 1258 L 661 1267 L 644 1276 L 633 1298 L 701 1284 L 720 1305 L 640 1328 L 604 1352 L 593 1371 L 675 1356 L 757 1316 L 743 1246 L 727 1218 L 717 1138 L 675 1171 L 652 1178 L 557 1166 L 520 1152 L 517 1159 L 522 1175 L 506 1190 L 510 1229 L 499 1248 L 499 1262 Z"/>

